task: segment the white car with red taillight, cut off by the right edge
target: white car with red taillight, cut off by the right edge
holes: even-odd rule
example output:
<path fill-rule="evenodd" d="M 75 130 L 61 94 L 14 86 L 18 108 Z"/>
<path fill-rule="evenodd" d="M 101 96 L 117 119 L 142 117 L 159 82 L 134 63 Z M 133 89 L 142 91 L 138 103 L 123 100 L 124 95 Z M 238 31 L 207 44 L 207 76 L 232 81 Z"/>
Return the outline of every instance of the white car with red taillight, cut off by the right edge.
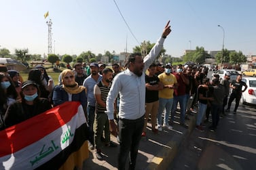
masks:
<path fill-rule="evenodd" d="M 246 91 L 242 93 L 240 103 L 256 104 L 256 77 L 242 77 L 242 81 L 244 81 L 248 87 Z"/>

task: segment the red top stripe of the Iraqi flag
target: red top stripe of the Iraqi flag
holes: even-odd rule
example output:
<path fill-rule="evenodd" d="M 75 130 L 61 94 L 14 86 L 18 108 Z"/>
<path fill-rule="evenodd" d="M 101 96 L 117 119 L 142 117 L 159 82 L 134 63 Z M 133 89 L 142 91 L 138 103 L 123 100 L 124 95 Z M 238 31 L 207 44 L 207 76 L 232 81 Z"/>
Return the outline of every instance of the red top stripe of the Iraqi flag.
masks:
<path fill-rule="evenodd" d="M 65 102 L 31 119 L 0 131 L 0 157 L 17 152 L 62 127 L 77 114 L 79 105 L 79 102 Z"/>

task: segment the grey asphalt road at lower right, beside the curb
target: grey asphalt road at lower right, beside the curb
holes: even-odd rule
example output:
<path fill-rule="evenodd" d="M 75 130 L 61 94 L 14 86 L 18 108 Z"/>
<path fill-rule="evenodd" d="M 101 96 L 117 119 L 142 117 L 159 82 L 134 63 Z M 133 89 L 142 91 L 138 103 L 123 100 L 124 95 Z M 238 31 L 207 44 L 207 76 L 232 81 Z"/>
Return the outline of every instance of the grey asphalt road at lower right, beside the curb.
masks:
<path fill-rule="evenodd" d="M 256 106 L 240 105 L 237 114 L 220 120 L 216 132 L 195 129 L 168 169 L 256 169 L 255 120 Z"/>

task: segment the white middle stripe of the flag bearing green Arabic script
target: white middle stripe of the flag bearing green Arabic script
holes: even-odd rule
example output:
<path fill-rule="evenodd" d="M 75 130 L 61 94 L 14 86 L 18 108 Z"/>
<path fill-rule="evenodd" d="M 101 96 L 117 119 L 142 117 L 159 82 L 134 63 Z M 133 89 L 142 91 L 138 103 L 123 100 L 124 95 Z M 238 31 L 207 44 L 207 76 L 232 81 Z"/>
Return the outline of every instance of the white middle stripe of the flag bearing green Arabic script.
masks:
<path fill-rule="evenodd" d="M 77 114 L 68 123 L 41 138 L 41 140 L 11 155 L 1 157 L 0 162 L 1 160 L 5 160 L 3 162 L 5 169 L 35 169 L 43 165 L 43 163 L 50 161 L 50 159 L 67 148 L 73 142 L 75 130 L 84 123 L 86 123 L 84 110 L 79 105 Z M 39 129 L 37 133 L 40 133 L 40 131 L 43 131 L 43 129 Z"/>

